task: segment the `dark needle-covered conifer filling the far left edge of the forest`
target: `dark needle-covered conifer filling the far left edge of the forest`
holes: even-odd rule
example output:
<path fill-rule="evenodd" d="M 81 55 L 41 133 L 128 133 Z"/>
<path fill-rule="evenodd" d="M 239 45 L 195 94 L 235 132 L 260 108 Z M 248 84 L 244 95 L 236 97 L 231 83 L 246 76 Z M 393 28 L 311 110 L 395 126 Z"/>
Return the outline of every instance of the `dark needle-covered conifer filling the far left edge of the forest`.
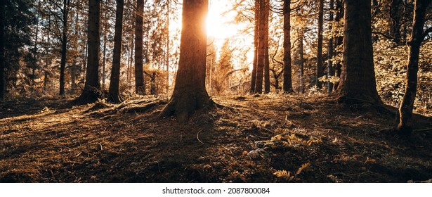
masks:
<path fill-rule="evenodd" d="M 34 59 L 36 1 L 2 0 L 0 4 L 0 100 L 7 90 L 27 93 Z"/>

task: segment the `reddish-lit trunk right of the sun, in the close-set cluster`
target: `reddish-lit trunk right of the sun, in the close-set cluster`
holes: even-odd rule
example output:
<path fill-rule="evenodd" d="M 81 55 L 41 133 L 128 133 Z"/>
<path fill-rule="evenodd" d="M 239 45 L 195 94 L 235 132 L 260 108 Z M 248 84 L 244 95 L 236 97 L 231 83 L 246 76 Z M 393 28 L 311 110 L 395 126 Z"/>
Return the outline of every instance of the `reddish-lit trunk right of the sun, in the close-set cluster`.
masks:
<path fill-rule="evenodd" d="M 255 93 L 263 93 L 263 72 L 265 66 L 265 23 L 266 23 L 266 0 L 259 0 L 258 8 L 258 56 L 256 60 L 256 81 L 255 81 Z"/>

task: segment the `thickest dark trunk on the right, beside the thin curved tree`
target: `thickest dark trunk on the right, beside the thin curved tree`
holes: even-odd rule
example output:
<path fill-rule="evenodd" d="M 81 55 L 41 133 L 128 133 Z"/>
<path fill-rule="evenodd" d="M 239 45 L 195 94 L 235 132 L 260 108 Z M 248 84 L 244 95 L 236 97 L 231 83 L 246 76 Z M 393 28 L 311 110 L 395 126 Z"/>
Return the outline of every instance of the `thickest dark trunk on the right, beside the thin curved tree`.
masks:
<path fill-rule="evenodd" d="M 372 51 L 371 2 L 344 1 L 343 59 L 339 101 L 381 105 Z"/>

